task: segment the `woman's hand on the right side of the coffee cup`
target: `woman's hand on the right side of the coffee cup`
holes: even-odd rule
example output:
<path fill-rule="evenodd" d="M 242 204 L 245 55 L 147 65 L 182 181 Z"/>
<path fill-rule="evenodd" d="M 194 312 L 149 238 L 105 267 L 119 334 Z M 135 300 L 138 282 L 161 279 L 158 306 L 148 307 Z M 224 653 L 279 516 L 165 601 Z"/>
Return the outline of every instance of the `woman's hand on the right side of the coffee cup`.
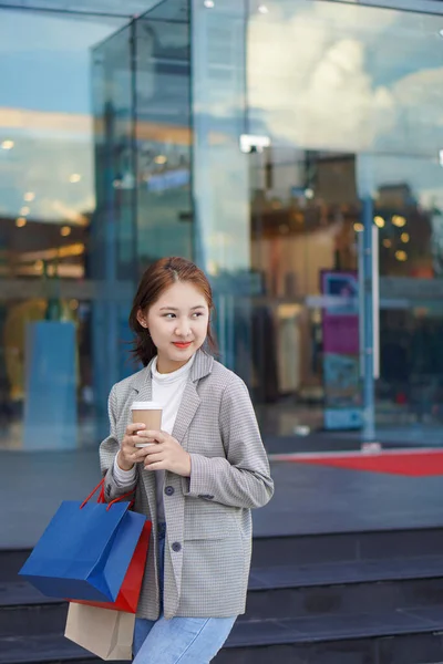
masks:
<path fill-rule="evenodd" d="M 166 432 L 143 430 L 138 432 L 138 438 L 156 442 L 144 448 L 146 470 L 171 470 L 182 477 L 190 477 L 190 456 L 173 436 Z"/>

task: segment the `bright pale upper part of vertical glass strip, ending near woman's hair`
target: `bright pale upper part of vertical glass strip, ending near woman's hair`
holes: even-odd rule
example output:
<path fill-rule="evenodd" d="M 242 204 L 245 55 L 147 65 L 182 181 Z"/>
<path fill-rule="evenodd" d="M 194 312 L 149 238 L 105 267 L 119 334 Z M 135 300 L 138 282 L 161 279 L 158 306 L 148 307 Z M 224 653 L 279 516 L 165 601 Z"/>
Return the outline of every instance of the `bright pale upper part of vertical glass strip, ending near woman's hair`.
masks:
<path fill-rule="evenodd" d="M 243 2 L 193 2 L 194 193 L 199 260 L 214 276 L 249 269 Z M 228 194 L 229 193 L 229 194 Z"/>

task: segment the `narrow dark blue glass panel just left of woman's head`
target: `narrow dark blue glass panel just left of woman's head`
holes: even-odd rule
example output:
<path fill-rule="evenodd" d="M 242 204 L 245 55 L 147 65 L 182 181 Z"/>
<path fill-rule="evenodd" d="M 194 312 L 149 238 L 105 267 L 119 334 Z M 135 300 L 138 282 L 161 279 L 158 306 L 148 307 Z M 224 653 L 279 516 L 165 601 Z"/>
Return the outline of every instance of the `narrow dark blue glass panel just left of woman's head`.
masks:
<path fill-rule="evenodd" d="M 95 131 L 96 209 L 91 229 L 94 393 L 100 430 L 107 394 L 127 373 L 127 315 L 136 280 L 136 163 L 134 23 L 96 44 L 91 54 Z M 103 334 L 103 331 L 105 335 Z"/>

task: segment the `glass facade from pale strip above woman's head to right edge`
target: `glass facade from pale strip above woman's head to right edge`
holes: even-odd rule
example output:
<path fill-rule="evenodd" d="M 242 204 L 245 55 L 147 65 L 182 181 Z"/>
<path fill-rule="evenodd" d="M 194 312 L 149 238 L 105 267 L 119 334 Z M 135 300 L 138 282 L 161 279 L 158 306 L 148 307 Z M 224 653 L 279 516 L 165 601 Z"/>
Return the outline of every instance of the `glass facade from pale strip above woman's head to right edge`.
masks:
<path fill-rule="evenodd" d="M 202 262 L 216 283 L 229 274 L 225 361 L 246 377 L 269 442 L 363 428 L 369 221 L 380 277 L 369 416 L 382 440 L 420 443 L 424 426 L 439 442 L 443 70 L 430 12 L 441 7 L 210 4 L 193 4 L 194 196 Z M 241 134 L 269 145 L 244 155 Z M 230 295 L 239 303 L 244 274 L 239 317 Z M 342 295 L 332 282 L 352 290 L 353 310 L 326 307 Z"/>

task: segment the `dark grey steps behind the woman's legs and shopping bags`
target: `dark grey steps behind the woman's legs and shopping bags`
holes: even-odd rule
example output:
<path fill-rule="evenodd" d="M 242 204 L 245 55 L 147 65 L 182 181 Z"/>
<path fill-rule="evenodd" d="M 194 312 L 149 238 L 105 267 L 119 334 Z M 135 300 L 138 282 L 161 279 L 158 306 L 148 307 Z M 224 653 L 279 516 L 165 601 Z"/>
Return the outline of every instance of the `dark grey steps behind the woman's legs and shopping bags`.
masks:
<path fill-rule="evenodd" d="M 435 664 L 443 654 L 443 531 L 257 538 L 247 613 L 216 664 Z M 0 552 L 0 664 L 96 663 L 63 637 L 66 603 Z M 4 563 L 4 564 L 3 564 Z"/>

